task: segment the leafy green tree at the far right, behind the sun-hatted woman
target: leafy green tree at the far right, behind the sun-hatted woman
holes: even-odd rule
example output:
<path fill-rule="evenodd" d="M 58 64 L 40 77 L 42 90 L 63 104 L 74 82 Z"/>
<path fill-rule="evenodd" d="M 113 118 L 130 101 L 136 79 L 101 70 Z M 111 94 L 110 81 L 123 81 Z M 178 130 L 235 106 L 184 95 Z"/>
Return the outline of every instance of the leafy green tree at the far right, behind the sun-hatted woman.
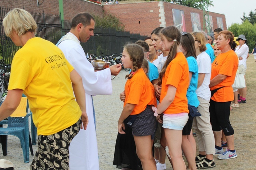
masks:
<path fill-rule="evenodd" d="M 237 37 L 244 34 L 247 39 L 249 51 L 252 52 L 256 43 L 256 24 L 252 25 L 248 20 L 245 20 L 242 24 L 232 24 L 228 30 Z"/>

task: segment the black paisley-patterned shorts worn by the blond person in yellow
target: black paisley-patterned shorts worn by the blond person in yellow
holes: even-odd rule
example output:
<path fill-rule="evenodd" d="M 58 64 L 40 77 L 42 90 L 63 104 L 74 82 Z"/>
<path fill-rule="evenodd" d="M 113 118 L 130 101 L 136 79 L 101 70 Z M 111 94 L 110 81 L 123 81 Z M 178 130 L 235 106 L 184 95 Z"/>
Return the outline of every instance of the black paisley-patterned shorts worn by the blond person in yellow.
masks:
<path fill-rule="evenodd" d="M 53 135 L 38 136 L 38 151 L 30 170 L 69 170 L 69 145 L 82 124 L 81 118 L 72 126 Z"/>

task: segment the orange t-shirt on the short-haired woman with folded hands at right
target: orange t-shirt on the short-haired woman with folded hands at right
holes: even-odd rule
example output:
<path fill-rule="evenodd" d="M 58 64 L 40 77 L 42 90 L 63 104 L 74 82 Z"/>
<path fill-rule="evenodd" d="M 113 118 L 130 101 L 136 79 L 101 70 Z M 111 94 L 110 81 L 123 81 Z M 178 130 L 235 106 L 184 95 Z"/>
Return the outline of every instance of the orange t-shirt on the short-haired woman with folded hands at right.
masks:
<path fill-rule="evenodd" d="M 210 88 L 210 90 L 214 90 L 224 86 L 224 88 L 221 88 L 216 93 L 214 93 L 211 98 L 213 101 L 229 102 L 234 99 L 232 84 L 234 83 L 234 79 L 236 78 L 237 69 L 238 58 L 233 50 L 221 53 L 216 57 L 216 59 L 212 63 L 211 80 L 218 74 L 223 74 L 228 77 L 221 83 Z"/>

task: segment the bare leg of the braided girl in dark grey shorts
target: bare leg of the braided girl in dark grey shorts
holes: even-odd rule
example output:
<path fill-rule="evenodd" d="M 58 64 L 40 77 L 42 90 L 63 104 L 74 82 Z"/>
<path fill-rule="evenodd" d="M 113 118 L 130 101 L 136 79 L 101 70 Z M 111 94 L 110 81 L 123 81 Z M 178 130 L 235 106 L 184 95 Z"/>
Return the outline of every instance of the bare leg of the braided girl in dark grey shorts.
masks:
<path fill-rule="evenodd" d="M 136 144 L 136 153 L 141 160 L 142 169 L 156 170 L 156 162 L 152 155 L 151 136 L 133 136 Z"/>

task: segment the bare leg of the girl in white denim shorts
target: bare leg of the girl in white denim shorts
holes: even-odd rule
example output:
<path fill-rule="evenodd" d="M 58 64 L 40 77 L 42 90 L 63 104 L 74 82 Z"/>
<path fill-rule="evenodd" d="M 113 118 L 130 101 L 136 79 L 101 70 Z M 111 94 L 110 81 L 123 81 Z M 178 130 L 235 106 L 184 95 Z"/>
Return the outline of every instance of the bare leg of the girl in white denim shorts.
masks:
<path fill-rule="evenodd" d="M 165 129 L 165 134 L 173 170 L 186 170 L 181 152 L 182 130 Z"/>

